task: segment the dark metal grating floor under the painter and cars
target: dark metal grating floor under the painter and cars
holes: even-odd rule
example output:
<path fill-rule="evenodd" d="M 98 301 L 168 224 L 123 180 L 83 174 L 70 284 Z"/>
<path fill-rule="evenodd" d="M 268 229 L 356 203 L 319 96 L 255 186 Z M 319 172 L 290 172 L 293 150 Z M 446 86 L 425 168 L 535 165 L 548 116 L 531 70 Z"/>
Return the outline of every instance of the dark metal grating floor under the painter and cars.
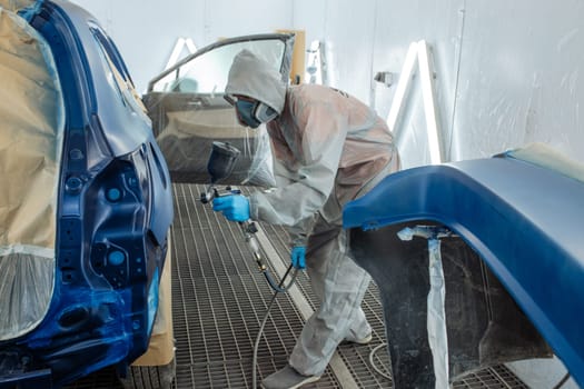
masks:
<path fill-rule="evenodd" d="M 257 270 L 239 227 L 226 222 L 222 216 L 212 212 L 209 205 L 198 201 L 204 187 L 176 183 L 174 189 L 172 315 L 177 347 L 174 389 L 251 388 L 253 348 L 271 299 L 271 289 Z M 289 253 L 284 229 L 270 225 L 260 227 L 279 257 L 270 259 L 287 261 Z M 297 278 L 297 286 L 314 308 L 314 296 L 304 273 Z M 338 356 L 350 375 L 349 380 L 345 376 L 339 381 L 336 370 L 329 367 L 323 378 L 306 386 L 307 389 L 392 387 L 392 382 L 369 363 L 372 350 L 385 341 L 383 308 L 375 285 L 367 291 L 363 308 L 374 330 L 372 343 L 342 345 L 338 348 Z M 278 296 L 259 345 L 258 382 L 286 365 L 303 323 L 297 301 L 289 293 Z M 382 350 L 375 355 L 374 362 L 382 371 L 388 372 L 389 361 Z M 527 388 L 504 366 L 469 375 L 453 387 Z M 117 389 L 121 386 L 113 370 L 108 368 L 66 388 Z"/>

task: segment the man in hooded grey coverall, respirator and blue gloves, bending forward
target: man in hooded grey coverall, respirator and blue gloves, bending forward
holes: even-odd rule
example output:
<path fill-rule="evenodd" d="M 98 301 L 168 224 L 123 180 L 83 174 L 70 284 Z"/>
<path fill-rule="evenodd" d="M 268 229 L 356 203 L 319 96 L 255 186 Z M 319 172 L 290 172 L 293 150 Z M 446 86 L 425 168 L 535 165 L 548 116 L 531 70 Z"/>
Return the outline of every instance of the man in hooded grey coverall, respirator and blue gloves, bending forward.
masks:
<path fill-rule="evenodd" d="M 277 189 L 216 198 L 214 210 L 232 221 L 287 226 L 291 263 L 306 266 L 319 300 L 288 365 L 261 382 L 299 388 L 320 378 L 342 341 L 372 340 L 360 308 L 370 277 L 348 256 L 342 210 L 397 171 L 399 157 L 386 123 L 366 104 L 328 87 L 287 86 L 248 50 L 234 59 L 226 99 L 242 126 L 266 123 Z"/>

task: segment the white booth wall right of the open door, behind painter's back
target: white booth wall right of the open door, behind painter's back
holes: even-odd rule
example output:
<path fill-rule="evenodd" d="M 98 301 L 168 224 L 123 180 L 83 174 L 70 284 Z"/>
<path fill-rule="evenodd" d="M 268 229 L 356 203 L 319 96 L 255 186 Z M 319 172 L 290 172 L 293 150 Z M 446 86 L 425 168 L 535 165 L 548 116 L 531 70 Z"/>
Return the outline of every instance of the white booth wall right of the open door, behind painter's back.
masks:
<path fill-rule="evenodd" d="M 387 117 L 412 42 L 432 48 L 444 160 L 545 142 L 584 162 L 584 2 L 336 0 L 295 2 L 296 28 L 325 42 L 329 82 Z M 301 24 L 306 20 L 315 24 Z M 320 14 L 317 17 L 316 14 Z M 373 81 L 387 71 L 393 84 Z M 429 163 L 419 74 L 395 132 L 406 167 Z"/>

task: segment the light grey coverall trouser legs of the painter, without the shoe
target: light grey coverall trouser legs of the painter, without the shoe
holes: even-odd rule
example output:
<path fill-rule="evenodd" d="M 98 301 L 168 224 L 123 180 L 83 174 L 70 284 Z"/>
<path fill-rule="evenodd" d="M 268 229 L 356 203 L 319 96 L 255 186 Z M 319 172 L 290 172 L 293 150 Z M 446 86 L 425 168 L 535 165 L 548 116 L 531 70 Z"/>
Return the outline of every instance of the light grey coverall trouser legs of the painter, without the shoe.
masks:
<path fill-rule="evenodd" d="M 306 266 L 319 307 L 305 323 L 289 359 L 301 375 L 323 375 L 346 336 L 370 332 L 360 309 L 370 276 L 346 253 L 347 232 L 340 220 L 327 223 L 318 216 L 308 240 Z"/>

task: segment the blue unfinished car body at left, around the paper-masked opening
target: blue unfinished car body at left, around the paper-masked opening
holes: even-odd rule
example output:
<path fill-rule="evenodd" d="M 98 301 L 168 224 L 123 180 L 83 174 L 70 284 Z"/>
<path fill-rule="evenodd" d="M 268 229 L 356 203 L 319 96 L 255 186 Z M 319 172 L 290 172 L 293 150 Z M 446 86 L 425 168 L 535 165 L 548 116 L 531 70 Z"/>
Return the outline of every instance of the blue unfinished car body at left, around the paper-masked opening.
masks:
<path fill-rule="evenodd" d="M 38 326 L 0 341 L 0 388 L 60 386 L 142 355 L 174 217 L 151 122 L 99 22 L 60 0 L 19 14 L 55 58 L 65 130 L 52 297 Z"/>

